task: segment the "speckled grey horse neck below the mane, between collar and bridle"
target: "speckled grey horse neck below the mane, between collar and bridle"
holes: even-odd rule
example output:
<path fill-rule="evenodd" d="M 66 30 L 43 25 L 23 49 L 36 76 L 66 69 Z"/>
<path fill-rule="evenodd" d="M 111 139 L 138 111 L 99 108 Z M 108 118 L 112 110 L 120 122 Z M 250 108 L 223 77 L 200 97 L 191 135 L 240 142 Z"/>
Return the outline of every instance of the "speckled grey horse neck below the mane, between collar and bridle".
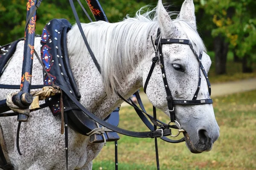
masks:
<path fill-rule="evenodd" d="M 155 31 L 152 31 L 152 33 L 153 32 Z M 68 46 L 69 43 L 73 43 L 69 41 L 69 36 L 71 35 L 68 35 Z M 125 99 L 128 99 L 129 96 L 131 96 L 134 92 L 143 86 L 142 77 L 145 63 L 149 63 L 149 61 L 151 61 L 152 54 L 154 54 L 153 47 L 151 48 L 150 38 L 148 38 L 148 41 L 148 54 L 140 57 L 133 56 L 136 60 L 136 62 L 134 62 L 134 69 L 131 69 L 127 75 L 121 77 L 123 81 L 121 81 L 120 84 L 116 86 L 116 91 L 118 91 L 119 94 L 121 94 Z M 95 51 L 96 49 L 92 50 Z M 142 54 L 142 52 L 139 53 Z M 102 81 L 103 77 L 97 70 L 96 65 L 90 56 L 84 56 L 84 54 L 81 53 L 77 53 L 81 55 L 77 56 L 74 51 L 69 51 L 69 54 L 70 65 L 72 67 L 74 77 L 82 96 L 80 100 L 81 104 L 83 104 L 84 107 L 92 113 L 95 113 L 96 116 L 101 118 L 108 116 L 109 113 L 111 113 L 115 108 L 122 104 L 122 99 L 116 96 L 116 94 L 110 94 L 107 96 L 105 86 Z M 86 54 L 88 54 L 87 51 Z M 82 57 L 82 59 L 80 57 Z M 97 60 L 99 61 L 99 65 L 102 65 L 102 59 L 99 57 L 100 56 L 96 56 Z M 80 62 L 77 62 L 78 58 L 80 58 Z M 119 63 L 114 63 L 114 65 L 117 64 Z"/>

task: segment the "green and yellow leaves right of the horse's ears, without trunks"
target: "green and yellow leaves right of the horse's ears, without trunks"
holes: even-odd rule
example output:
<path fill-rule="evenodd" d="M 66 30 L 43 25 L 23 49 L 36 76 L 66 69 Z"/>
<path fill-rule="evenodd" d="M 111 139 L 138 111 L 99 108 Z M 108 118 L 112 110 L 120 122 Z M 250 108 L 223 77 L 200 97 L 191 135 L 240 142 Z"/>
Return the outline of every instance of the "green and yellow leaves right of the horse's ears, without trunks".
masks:
<path fill-rule="evenodd" d="M 256 16 L 254 0 L 200 0 L 203 8 L 212 20 L 212 37 L 221 34 L 234 48 L 239 57 L 250 56 L 256 61 Z"/>

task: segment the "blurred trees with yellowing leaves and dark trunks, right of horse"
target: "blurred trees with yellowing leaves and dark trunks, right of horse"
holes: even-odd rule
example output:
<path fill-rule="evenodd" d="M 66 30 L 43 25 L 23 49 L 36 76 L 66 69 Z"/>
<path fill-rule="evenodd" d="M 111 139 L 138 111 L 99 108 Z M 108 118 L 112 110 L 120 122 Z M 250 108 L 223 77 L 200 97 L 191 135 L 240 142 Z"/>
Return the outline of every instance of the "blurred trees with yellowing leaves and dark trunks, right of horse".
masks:
<path fill-rule="evenodd" d="M 212 16 L 217 74 L 226 73 L 227 51 L 242 58 L 243 72 L 252 72 L 256 60 L 256 3 L 254 0 L 200 0 L 201 8 Z"/>

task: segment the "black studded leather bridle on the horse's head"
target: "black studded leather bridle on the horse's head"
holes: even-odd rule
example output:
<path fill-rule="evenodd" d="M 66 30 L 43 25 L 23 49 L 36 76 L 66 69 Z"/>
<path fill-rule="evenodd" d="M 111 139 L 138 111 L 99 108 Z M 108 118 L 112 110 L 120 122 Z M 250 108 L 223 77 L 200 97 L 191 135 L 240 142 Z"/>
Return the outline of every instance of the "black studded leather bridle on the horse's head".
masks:
<path fill-rule="evenodd" d="M 148 85 L 148 81 L 151 77 L 151 74 L 154 70 L 154 66 L 156 64 L 156 62 L 158 60 L 160 60 L 160 68 L 162 71 L 162 77 L 163 77 L 163 83 L 165 86 L 165 91 L 166 91 L 166 99 L 167 99 L 167 105 L 168 105 L 168 109 L 169 109 L 169 113 L 170 113 L 170 122 L 176 122 L 179 126 L 180 124 L 176 121 L 176 117 L 175 117 L 175 105 L 205 105 L 205 104 L 211 104 L 212 103 L 212 99 L 200 99 L 197 100 L 197 96 L 198 96 L 198 92 L 200 90 L 200 85 L 201 85 L 201 71 L 204 74 L 204 77 L 206 78 L 207 81 L 207 85 L 208 85 L 208 91 L 209 91 L 209 96 L 211 96 L 211 85 L 207 76 L 207 73 L 204 69 L 204 66 L 202 65 L 201 59 L 203 56 L 202 51 L 198 54 L 195 52 L 192 44 L 190 43 L 189 40 L 184 40 L 184 39 L 160 39 L 160 28 L 158 28 L 157 30 L 157 39 L 155 41 L 154 45 L 157 45 L 157 49 L 155 50 L 155 57 L 152 59 L 152 65 L 151 68 L 149 70 L 148 73 L 148 77 L 145 81 L 145 85 L 144 85 L 144 92 L 146 93 L 146 89 L 147 89 L 147 85 Z M 164 68 L 164 60 L 163 60 L 163 51 L 162 51 L 162 45 L 163 44 L 186 44 L 189 45 L 189 47 L 191 48 L 191 50 L 193 51 L 193 53 L 195 54 L 195 57 L 198 59 L 199 62 L 199 79 L 198 79 L 198 87 L 195 91 L 195 94 L 192 98 L 192 100 L 174 100 L 172 97 L 172 93 L 171 90 L 169 88 L 168 82 L 167 82 L 167 78 L 166 78 L 166 71 Z M 159 54 L 159 57 L 157 56 L 157 54 Z M 169 122 L 169 124 L 170 124 Z M 183 132 L 183 130 L 180 128 L 179 132 Z"/>

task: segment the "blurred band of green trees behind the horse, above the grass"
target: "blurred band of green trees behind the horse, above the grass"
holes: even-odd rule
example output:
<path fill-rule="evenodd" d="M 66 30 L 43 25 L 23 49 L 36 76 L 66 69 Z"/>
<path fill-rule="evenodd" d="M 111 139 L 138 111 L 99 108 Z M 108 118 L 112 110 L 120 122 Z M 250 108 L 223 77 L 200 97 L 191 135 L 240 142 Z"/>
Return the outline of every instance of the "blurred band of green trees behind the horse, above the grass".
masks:
<path fill-rule="evenodd" d="M 85 0 L 81 3 L 87 7 Z M 100 0 L 110 22 L 118 22 L 129 14 L 157 0 Z M 163 0 L 169 11 L 180 11 L 183 0 Z M 215 82 L 255 77 L 256 72 L 256 3 L 254 0 L 194 0 L 198 32 L 212 58 L 210 77 L 222 76 Z M 75 1 L 81 22 L 88 23 Z M 90 10 L 87 11 L 91 14 Z M 36 33 L 53 18 L 65 18 L 75 23 L 68 0 L 43 0 L 37 13 Z M 0 1 L 0 45 L 24 36 L 26 0 Z M 247 74 L 240 74 L 247 73 Z M 249 73 L 249 74 L 248 74 Z"/>

